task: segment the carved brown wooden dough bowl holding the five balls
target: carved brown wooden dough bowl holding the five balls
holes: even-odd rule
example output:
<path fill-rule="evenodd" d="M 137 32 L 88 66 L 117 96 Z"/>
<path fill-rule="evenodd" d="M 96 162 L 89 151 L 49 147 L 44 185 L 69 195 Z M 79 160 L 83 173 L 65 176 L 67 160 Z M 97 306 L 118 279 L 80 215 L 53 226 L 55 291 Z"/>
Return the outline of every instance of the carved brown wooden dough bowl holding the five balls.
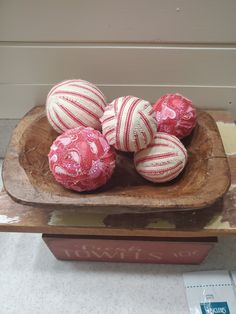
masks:
<path fill-rule="evenodd" d="M 192 210 L 212 205 L 230 185 L 218 128 L 204 111 L 198 112 L 196 128 L 183 141 L 189 154 L 185 170 L 165 184 L 146 181 L 135 171 L 133 155 L 117 152 L 115 173 L 104 187 L 89 193 L 66 190 L 48 166 L 47 154 L 57 136 L 44 106 L 33 108 L 15 128 L 3 166 L 5 189 L 15 201 L 113 214 Z"/>

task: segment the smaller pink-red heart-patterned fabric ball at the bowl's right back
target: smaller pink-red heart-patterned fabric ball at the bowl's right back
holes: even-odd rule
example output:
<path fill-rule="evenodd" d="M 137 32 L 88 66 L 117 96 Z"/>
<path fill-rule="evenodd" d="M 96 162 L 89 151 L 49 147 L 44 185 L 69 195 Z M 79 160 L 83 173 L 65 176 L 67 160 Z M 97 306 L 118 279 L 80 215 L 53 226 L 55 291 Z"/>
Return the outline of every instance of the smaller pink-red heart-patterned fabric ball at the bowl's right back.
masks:
<path fill-rule="evenodd" d="M 191 133 L 197 122 L 197 112 L 191 100 L 180 94 L 167 94 L 153 106 L 157 130 L 183 138 Z"/>

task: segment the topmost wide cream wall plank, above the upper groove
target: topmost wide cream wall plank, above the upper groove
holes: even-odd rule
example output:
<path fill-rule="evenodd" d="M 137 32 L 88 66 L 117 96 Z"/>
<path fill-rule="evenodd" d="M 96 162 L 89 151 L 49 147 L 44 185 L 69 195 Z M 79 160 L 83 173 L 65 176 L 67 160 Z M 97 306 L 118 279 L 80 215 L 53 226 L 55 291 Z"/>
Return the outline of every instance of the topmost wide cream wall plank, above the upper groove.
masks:
<path fill-rule="evenodd" d="M 0 40 L 236 43 L 235 0 L 1 0 Z"/>

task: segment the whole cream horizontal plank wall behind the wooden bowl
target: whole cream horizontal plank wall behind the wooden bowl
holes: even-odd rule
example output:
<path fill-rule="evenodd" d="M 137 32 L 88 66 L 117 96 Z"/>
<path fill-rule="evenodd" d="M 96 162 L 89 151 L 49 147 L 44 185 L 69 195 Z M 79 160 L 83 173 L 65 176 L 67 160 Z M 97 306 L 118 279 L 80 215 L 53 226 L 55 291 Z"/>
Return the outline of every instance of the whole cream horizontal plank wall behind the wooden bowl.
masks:
<path fill-rule="evenodd" d="M 235 30 L 234 0 L 1 0 L 0 119 L 67 78 L 109 100 L 178 91 L 236 114 Z"/>

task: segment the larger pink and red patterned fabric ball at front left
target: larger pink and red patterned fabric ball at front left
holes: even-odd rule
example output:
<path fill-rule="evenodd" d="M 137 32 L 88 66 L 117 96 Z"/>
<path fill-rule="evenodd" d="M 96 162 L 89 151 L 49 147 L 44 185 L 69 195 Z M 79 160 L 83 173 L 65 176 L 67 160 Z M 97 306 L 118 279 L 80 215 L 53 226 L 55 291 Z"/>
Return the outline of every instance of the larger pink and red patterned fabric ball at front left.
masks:
<path fill-rule="evenodd" d="M 56 181 L 78 192 L 104 185 L 115 168 L 115 153 L 104 136 L 92 128 L 78 127 L 61 134 L 48 154 Z"/>

